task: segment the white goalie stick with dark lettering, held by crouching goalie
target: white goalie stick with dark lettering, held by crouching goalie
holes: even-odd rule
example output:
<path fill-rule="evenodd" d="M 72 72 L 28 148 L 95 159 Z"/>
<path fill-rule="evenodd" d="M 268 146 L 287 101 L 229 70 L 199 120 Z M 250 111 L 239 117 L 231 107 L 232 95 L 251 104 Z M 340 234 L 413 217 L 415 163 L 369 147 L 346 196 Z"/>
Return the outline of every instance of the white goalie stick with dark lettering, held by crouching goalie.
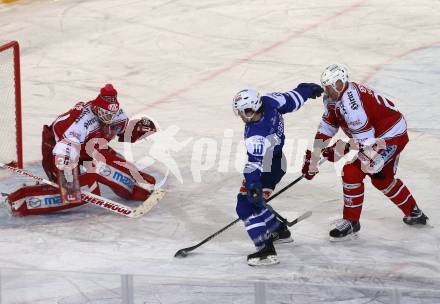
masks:
<path fill-rule="evenodd" d="M 9 170 L 15 174 L 19 174 L 25 177 L 29 177 L 32 178 L 34 180 L 37 180 L 39 182 L 42 182 L 46 185 L 55 187 L 55 188 L 59 188 L 58 184 L 51 182 L 47 179 L 44 179 L 40 176 L 37 176 L 35 174 L 32 174 L 29 171 L 26 171 L 24 169 L 18 169 L 3 163 L 0 163 L 0 167 L 2 167 L 3 169 Z M 81 199 L 85 202 L 94 204 L 98 207 L 107 209 L 111 212 L 120 214 L 120 215 L 124 215 L 126 217 L 129 218 L 138 218 L 141 217 L 142 215 L 144 215 L 145 213 L 149 212 L 151 210 L 151 208 L 153 208 L 154 206 L 157 205 L 157 203 L 163 198 L 163 196 L 165 195 L 165 191 L 162 189 L 159 190 L 155 190 L 151 193 L 151 195 L 148 197 L 147 200 L 145 200 L 142 204 L 140 204 L 138 207 L 136 208 L 130 208 L 126 205 L 120 204 L 118 202 L 112 201 L 110 199 L 101 197 L 99 195 L 87 192 L 87 191 L 82 191 L 81 192 Z"/>

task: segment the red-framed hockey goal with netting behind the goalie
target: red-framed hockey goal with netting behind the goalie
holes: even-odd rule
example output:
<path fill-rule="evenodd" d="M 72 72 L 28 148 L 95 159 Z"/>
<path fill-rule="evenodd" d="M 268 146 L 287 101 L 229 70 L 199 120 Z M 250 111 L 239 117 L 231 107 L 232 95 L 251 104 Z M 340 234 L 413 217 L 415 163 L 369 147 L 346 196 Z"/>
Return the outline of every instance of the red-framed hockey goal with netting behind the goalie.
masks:
<path fill-rule="evenodd" d="M 17 41 L 0 42 L 0 161 L 23 168 L 20 51 Z"/>

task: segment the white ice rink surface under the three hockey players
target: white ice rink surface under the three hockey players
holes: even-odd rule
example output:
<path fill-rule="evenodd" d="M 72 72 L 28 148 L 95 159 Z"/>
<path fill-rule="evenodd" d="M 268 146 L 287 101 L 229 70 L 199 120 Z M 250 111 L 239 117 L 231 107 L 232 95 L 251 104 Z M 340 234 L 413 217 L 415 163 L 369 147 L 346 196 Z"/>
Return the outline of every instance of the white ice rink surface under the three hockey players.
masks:
<path fill-rule="evenodd" d="M 0 40 L 21 45 L 26 168 L 43 174 L 42 125 L 109 82 L 130 116 L 153 117 L 166 135 L 136 145 L 135 160 L 163 147 L 174 165 L 146 169 L 167 176 L 168 193 L 137 220 L 94 206 L 29 218 L 1 209 L 1 303 L 440 303 L 440 1 L 5 2 Z M 340 162 L 273 201 L 289 219 L 313 211 L 277 248 L 279 265 L 247 266 L 242 224 L 174 258 L 236 217 L 245 152 L 234 94 L 319 83 L 333 62 L 397 100 L 410 135 L 398 175 L 430 226 L 404 225 L 367 181 L 360 238 L 330 243 Z M 314 100 L 285 116 L 280 186 L 298 176 L 322 111 Z M 22 183 L 3 173 L 0 190 Z"/>

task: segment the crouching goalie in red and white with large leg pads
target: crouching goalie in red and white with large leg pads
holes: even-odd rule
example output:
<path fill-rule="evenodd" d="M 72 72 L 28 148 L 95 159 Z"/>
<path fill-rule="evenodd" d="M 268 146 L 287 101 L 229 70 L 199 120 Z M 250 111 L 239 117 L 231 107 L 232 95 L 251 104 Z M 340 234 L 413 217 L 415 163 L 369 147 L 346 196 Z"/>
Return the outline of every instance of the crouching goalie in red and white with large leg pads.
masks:
<path fill-rule="evenodd" d="M 100 195 L 99 184 L 104 184 L 125 199 L 146 200 L 155 184 L 154 177 L 138 170 L 107 143 L 115 137 L 135 142 L 154 132 L 156 126 L 148 118 L 128 120 L 119 108 L 116 89 L 107 84 L 94 100 L 77 103 L 50 126 L 44 126 L 42 165 L 49 179 L 58 182 L 61 189 L 76 181 L 78 192 L 79 187 L 88 187 L 90 192 Z M 64 184 L 69 179 L 71 183 Z M 63 191 L 61 194 L 47 185 L 24 186 L 9 194 L 7 201 L 12 214 L 20 216 L 85 203 L 78 197 L 69 201 Z"/>

